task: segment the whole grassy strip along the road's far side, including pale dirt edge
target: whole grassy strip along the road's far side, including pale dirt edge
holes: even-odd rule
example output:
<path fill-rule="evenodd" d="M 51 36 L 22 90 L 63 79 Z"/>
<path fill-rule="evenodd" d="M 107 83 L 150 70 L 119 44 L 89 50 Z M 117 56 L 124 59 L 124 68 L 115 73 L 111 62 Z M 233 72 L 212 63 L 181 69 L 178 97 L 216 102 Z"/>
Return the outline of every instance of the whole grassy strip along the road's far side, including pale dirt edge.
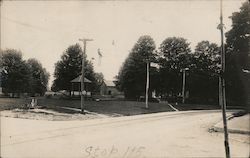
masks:
<path fill-rule="evenodd" d="M 1 116 L 28 118 L 38 120 L 87 120 L 103 117 L 117 117 L 140 115 L 157 112 L 174 111 L 167 103 L 149 103 L 145 108 L 144 102 L 136 101 L 85 101 L 86 115 L 82 115 L 80 100 L 67 100 L 58 98 L 38 98 L 38 107 L 28 109 L 31 98 L 0 98 Z M 186 110 L 214 110 L 220 109 L 218 105 L 202 104 L 172 104 L 179 111 Z M 78 111 L 64 109 L 62 107 L 76 108 Z M 230 108 L 230 107 L 229 107 Z"/>

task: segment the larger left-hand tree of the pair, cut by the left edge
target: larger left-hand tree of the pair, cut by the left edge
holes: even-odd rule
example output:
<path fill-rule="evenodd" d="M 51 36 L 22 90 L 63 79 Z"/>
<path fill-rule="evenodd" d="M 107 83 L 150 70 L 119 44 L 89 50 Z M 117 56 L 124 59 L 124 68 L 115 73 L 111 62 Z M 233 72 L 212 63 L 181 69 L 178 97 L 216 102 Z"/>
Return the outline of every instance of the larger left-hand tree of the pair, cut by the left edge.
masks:
<path fill-rule="evenodd" d="M 2 86 L 4 93 L 20 94 L 29 91 L 31 81 L 28 65 L 21 51 L 6 49 L 2 52 Z"/>

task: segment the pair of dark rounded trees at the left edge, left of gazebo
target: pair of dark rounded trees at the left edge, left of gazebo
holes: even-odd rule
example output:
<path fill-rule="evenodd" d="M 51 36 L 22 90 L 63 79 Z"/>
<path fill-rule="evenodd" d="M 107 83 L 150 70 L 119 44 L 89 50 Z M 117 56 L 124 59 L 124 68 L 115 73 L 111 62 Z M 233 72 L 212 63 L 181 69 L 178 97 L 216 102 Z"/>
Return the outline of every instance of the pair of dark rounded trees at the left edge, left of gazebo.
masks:
<path fill-rule="evenodd" d="M 12 97 L 44 95 L 50 75 L 37 59 L 23 60 L 22 52 L 15 49 L 1 50 L 0 54 L 3 93 Z"/>

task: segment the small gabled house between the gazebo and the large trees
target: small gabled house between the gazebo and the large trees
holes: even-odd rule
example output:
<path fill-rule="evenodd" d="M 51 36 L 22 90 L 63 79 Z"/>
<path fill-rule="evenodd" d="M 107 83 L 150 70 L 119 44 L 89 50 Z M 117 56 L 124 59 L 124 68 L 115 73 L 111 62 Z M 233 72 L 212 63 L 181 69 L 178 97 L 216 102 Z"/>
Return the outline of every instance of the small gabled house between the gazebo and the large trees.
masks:
<path fill-rule="evenodd" d="M 101 95 L 119 95 L 121 92 L 116 88 L 114 81 L 104 80 L 100 87 Z"/>

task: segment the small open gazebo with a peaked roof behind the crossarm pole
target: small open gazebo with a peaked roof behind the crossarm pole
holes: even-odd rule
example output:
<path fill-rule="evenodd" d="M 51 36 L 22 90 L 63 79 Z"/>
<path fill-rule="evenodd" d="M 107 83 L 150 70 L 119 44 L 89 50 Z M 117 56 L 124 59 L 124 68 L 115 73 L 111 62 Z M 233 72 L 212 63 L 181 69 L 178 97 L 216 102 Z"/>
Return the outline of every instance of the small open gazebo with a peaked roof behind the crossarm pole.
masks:
<path fill-rule="evenodd" d="M 74 92 L 77 91 L 78 95 L 81 95 L 81 80 L 82 80 L 82 75 L 78 76 L 77 78 L 71 80 L 71 95 L 75 95 Z M 88 92 L 88 87 L 92 82 L 84 77 L 84 90 L 86 91 L 87 96 L 91 95 L 90 92 Z"/>

